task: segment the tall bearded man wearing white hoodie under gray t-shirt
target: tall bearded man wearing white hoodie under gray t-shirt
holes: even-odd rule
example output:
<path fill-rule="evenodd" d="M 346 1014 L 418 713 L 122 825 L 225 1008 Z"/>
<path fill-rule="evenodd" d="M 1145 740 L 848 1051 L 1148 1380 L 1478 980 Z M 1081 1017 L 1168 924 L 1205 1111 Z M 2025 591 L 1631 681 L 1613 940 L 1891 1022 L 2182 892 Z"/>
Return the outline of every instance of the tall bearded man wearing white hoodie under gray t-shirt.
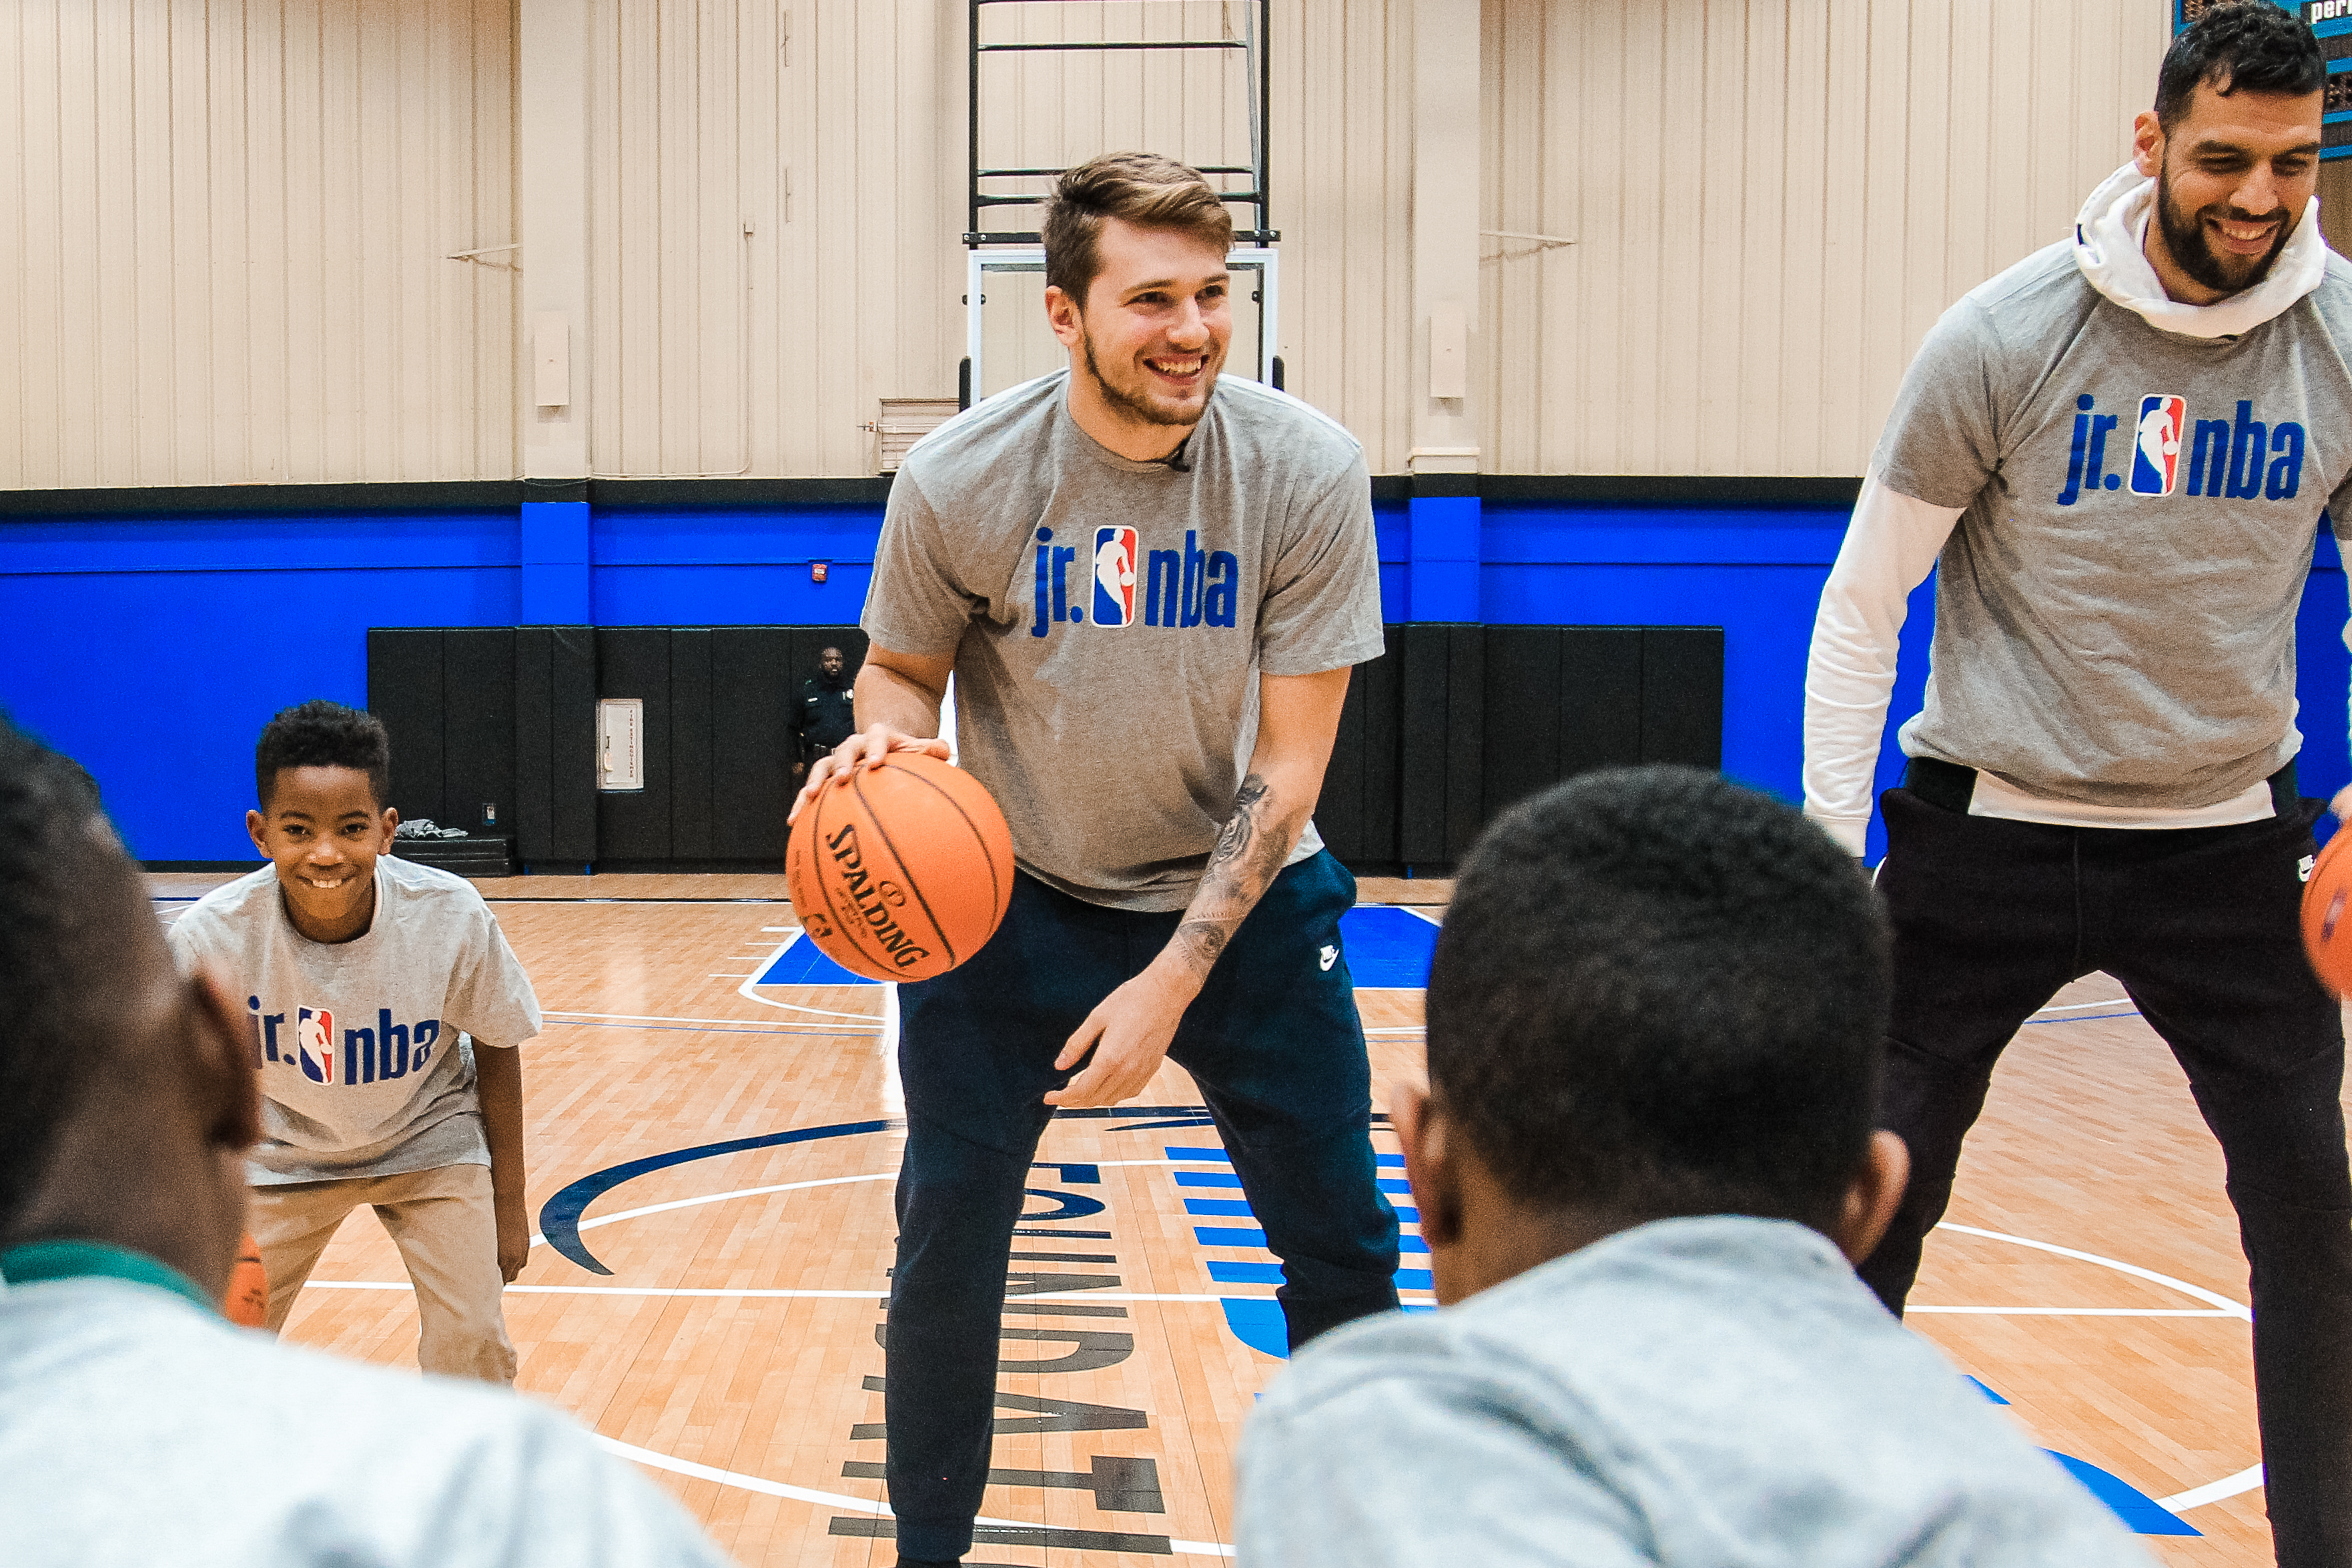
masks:
<path fill-rule="evenodd" d="M 2296 609 L 2352 524 L 2352 268 L 2319 233 L 2326 63 L 2272 5 L 2173 40 L 2074 235 L 1962 299 L 1896 397 L 1823 590 L 1806 813 L 1870 823 L 1905 595 L 1943 562 L 1879 889 L 1896 1312 L 1992 1065 L 2091 971 L 2171 1044 L 2230 1164 L 2279 1563 L 2352 1563 L 2343 1025 L 2298 940 Z M 2340 797 L 2343 799 L 2343 797 Z"/>

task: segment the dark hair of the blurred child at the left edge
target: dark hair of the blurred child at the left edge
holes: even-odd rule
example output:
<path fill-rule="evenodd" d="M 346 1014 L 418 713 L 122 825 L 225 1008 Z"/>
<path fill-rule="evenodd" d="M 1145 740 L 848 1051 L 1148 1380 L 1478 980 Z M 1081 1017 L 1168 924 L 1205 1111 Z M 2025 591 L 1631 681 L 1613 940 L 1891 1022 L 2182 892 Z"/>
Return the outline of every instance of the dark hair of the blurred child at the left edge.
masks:
<path fill-rule="evenodd" d="M 106 1070 L 141 947 L 169 961 L 89 773 L 0 717 L 0 1237 Z"/>

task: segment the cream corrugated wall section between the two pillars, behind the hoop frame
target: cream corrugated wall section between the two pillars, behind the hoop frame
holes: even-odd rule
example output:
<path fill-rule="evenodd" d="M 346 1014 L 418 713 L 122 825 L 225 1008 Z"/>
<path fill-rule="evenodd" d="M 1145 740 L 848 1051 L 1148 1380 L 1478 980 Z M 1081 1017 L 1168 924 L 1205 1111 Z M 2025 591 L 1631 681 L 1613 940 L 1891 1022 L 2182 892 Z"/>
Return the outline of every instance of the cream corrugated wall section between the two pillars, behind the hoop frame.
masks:
<path fill-rule="evenodd" d="M 1242 12 L 1216 0 L 1007 5 L 988 7 L 983 38 L 1240 38 Z M 1402 470 L 1411 444 L 1406 38 L 1402 2 L 1275 7 L 1289 388 L 1357 430 L 1376 473 Z M 981 158 L 1061 167 L 1141 146 L 1247 162 L 1240 59 L 990 56 Z M 873 473 L 875 437 L 858 425 L 882 397 L 955 393 L 964 92 L 962 5 L 600 0 L 595 473 Z M 983 223 L 1035 226 L 1028 207 L 997 214 Z M 1035 277 L 990 282 L 983 390 L 1063 364 L 1040 296 Z M 1240 367 L 1256 327 L 1237 303 Z"/>

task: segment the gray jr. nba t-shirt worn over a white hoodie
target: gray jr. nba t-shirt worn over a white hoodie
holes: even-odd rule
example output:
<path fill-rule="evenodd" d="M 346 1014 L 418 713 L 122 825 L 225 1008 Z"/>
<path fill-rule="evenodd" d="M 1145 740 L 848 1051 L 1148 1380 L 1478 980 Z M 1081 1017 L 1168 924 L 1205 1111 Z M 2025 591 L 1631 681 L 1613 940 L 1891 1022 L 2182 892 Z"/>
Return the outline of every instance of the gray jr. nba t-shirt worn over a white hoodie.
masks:
<path fill-rule="evenodd" d="M 2091 806 L 2206 806 L 2291 759 L 2296 609 L 2352 505 L 2352 266 L 2239 336 L 2103 299 L 2070 242 L 1952 306 L 1872 468 L 1966 508 L 1903 750 Z"/>

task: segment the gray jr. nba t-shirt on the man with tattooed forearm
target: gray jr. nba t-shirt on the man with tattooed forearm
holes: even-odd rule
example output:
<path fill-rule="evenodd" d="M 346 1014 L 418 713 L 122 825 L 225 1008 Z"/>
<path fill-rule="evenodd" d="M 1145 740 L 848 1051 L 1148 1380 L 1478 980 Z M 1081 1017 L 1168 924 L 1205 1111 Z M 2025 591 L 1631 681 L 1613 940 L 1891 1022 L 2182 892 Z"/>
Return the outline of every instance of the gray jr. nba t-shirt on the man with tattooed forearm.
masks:
<path fill-rule="evenodd" d="M 1218 378 L 1181 465 L 1108 451 L 1068 371 L 924 437 L 889 494 L 866 632 L 955 656 L 957 755 L 1033 877 L 1181 910 L 1258 733 L 1258 675 L 1381 656 L 1364 451 Z M 1294 858 L 1322 849 L 1312 823 Z"/>

